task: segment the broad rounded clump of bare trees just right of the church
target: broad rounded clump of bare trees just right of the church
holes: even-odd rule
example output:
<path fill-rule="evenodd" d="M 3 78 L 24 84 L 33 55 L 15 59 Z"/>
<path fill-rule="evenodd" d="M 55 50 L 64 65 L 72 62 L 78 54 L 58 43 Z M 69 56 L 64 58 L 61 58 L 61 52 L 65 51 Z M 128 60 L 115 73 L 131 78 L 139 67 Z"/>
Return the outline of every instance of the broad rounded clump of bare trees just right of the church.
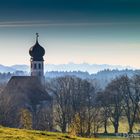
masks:
<path fill-rule="evenodd" d="M 92 84 L 87 80 L 65 76 L 57 78 L 51 85 L 54 93 L 54 119 L 62 132 L 66 132 L 78 118 L 78 135 L 90 135 L 95 98 Z"/>

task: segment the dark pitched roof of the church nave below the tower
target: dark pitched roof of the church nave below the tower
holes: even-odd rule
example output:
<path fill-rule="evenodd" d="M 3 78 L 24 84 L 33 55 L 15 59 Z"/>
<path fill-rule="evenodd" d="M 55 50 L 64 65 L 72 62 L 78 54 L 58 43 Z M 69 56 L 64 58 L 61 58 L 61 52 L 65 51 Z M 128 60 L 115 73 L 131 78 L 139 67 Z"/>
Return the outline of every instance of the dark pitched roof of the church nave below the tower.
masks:
<path fill-rule="evenodd" d="M 38 78 L 33 76 L 13 76 L 0 98 L 20 107 L 31 106 L 32 109 L 36 109 L 41 102 L 52 100 Z"/>

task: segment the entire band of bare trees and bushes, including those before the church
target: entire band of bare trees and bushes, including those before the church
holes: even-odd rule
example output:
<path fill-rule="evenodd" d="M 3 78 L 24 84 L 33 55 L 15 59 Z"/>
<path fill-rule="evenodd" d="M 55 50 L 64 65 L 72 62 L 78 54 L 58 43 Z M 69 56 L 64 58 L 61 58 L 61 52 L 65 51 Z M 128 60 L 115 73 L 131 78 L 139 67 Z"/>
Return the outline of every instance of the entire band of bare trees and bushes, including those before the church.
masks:
<path fill-rule="evenodd" d="M 28 108 L 20 109 L 14 116 L 18 121 L 10 123 L 17 123 L 19 128 L 79 136 L 96 134 L 101 128 L 108 133 L 109 125 L 118 133 L 122 118 L 127 121 L 129 133 L 133 133 L 135 124 L 140 124 L 140 75 L 115 78 L 105 89 L 94 81 L 64 76 L 47 81 L 46 90 L 53 97 L 51 111 L 44 107 L 34 115 Z M 7 126 L 5 118 L 13 114 L 15 107 L 3 108 L 0 106 L 0 124 Z"/>

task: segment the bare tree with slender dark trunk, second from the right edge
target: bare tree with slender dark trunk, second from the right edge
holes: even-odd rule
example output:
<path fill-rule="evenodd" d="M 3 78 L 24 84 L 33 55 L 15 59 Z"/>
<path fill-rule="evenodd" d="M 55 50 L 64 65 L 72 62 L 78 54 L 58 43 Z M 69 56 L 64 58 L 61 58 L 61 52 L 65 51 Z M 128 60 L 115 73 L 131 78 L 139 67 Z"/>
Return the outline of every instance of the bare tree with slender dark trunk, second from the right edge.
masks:
<path fill-rule="evenodd" d="M 114 132 L 118 133 L 119 120 L 122 115 L 122 98 L 120 91 L 120 80 L 116 78 L 105 89 L 105 97 L 109 104 L 109 117 L 113 124 Z M 108 99 L 107 99 L 108 98 Z"/>

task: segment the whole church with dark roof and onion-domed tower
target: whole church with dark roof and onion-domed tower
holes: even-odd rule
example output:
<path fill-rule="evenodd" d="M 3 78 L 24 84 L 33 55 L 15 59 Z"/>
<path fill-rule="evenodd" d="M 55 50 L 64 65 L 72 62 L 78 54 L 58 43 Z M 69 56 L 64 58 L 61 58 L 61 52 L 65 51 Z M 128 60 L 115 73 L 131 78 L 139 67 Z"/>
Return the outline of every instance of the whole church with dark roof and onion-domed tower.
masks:
<path fill-rule="evenodd" d="M 50 130 L 52 127 L 52 97 L 45 90 L 45 49 L 38 37 L 36 33 L 35 45 L 29 49 L 30 76 L 11 77 L 0 94 L 0 111 L 3 112 L 0 124 L 4 126 L 22 128 L 20 112 L 26 109 L 31 114 L 33 129 Z"/>

